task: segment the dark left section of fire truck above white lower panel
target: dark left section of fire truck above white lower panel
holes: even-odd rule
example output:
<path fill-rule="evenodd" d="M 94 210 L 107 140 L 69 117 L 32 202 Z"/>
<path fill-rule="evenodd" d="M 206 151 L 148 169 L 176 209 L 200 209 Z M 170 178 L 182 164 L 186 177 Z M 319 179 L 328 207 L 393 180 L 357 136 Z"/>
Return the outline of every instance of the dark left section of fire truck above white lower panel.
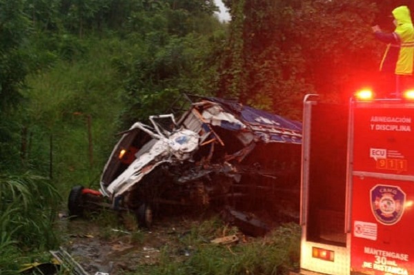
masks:
<path fill-rule="evenodd" d="M 306 98 L 303 137 L 301 274 L 349 275 L 348 105 Z"/>

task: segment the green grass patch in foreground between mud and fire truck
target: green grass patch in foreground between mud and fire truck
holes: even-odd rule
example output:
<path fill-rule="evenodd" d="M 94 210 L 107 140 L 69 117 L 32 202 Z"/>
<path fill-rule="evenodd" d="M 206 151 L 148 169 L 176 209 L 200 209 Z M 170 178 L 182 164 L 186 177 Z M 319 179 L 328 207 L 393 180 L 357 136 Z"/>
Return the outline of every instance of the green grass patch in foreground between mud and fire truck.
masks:
<path fill-rule="evenodd" d="M 213 226 L 212 226 L 213 225 Z M 296 224 L 286 224 L 261 238 L 243 236 L 235 227 L 227 227 L 213 218 L 194 225 L 190 234 L 181 240 L 188 248 L 188 256 L 172 257 L 177 254 L 174 247 L 165 245 L 157 265 L 139 267 L 130 275 L 276 275 L 288 274 L 299 263 L 299 234 Z M 214 245 L 213 238 L 223 233 L 240 236 L 238 243 Z"/>

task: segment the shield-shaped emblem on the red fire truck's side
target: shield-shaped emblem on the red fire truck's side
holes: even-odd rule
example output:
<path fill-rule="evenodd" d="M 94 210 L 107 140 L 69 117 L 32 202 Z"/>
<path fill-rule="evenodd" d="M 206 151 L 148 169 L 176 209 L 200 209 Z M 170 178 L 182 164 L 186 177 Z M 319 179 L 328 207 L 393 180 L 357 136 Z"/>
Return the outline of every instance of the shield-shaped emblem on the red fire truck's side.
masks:
<path fill-rule="evenodd" d="M 394 225 L 404 213 L 406 194 L 398 186 L 375 185 L 371 189 L 371 209 L 379 223 Z"/>

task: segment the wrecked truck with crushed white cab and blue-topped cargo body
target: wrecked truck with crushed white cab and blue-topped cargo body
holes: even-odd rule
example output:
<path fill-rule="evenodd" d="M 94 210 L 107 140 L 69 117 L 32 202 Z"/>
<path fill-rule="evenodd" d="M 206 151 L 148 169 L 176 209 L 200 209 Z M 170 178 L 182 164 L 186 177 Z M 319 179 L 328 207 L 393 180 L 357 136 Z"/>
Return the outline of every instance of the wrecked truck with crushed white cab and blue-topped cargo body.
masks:
<path fill-rule="evenodd" d="M 237 101 L 198 97 L 179 119 L 150 116 L 122 132 L 101 174 L 100 188 L 81 185 L 70 215 L 110 207 L 153 217 L 213 208 L 246 233 L 299 218 L 302 125 Z"/>

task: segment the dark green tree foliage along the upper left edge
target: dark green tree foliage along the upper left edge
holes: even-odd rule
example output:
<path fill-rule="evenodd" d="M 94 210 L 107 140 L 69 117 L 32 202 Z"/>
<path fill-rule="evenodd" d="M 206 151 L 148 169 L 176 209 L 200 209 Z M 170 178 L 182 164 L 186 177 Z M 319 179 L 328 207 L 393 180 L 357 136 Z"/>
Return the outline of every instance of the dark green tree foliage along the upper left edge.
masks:
<path fill-rule="evenodd" d="M 11 118 L 12 110 L 21 102 L 20 89 L 28 74 L 26 42 L 30 21 L 23 11 L 26 1 L 0 0 L 0 167 L 19 167 L 19 123 Z"/>

